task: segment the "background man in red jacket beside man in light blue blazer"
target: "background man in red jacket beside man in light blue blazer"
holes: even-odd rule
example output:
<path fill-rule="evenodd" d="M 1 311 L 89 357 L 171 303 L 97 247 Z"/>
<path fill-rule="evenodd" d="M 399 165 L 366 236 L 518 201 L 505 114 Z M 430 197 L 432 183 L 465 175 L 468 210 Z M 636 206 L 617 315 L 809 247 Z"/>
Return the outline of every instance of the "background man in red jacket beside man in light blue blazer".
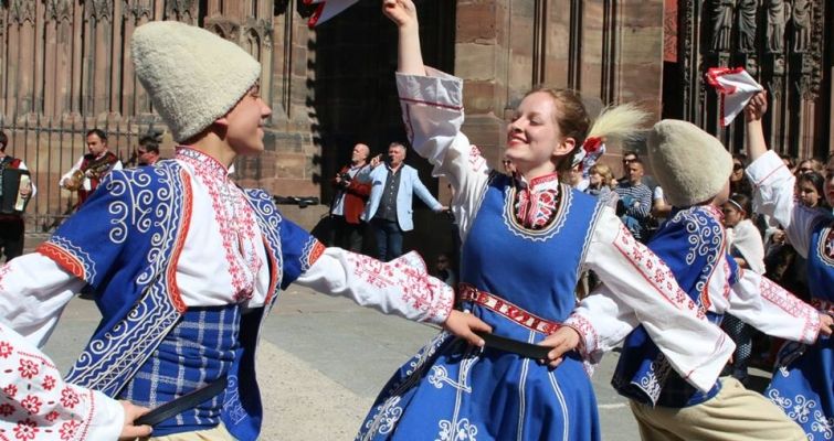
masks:
<path fill-rule="evenodd" d="M 342 166 L 331 180 L 336 195 L 330 204 L 330 246 L 355 252 L 362 250 L 362 222 L 359 217 L 371 193 L 371 184 L 356 180 L 358 174 L 368 172 L 370 148 L 363 143 L 353 146 L 350 163 Z"/>

